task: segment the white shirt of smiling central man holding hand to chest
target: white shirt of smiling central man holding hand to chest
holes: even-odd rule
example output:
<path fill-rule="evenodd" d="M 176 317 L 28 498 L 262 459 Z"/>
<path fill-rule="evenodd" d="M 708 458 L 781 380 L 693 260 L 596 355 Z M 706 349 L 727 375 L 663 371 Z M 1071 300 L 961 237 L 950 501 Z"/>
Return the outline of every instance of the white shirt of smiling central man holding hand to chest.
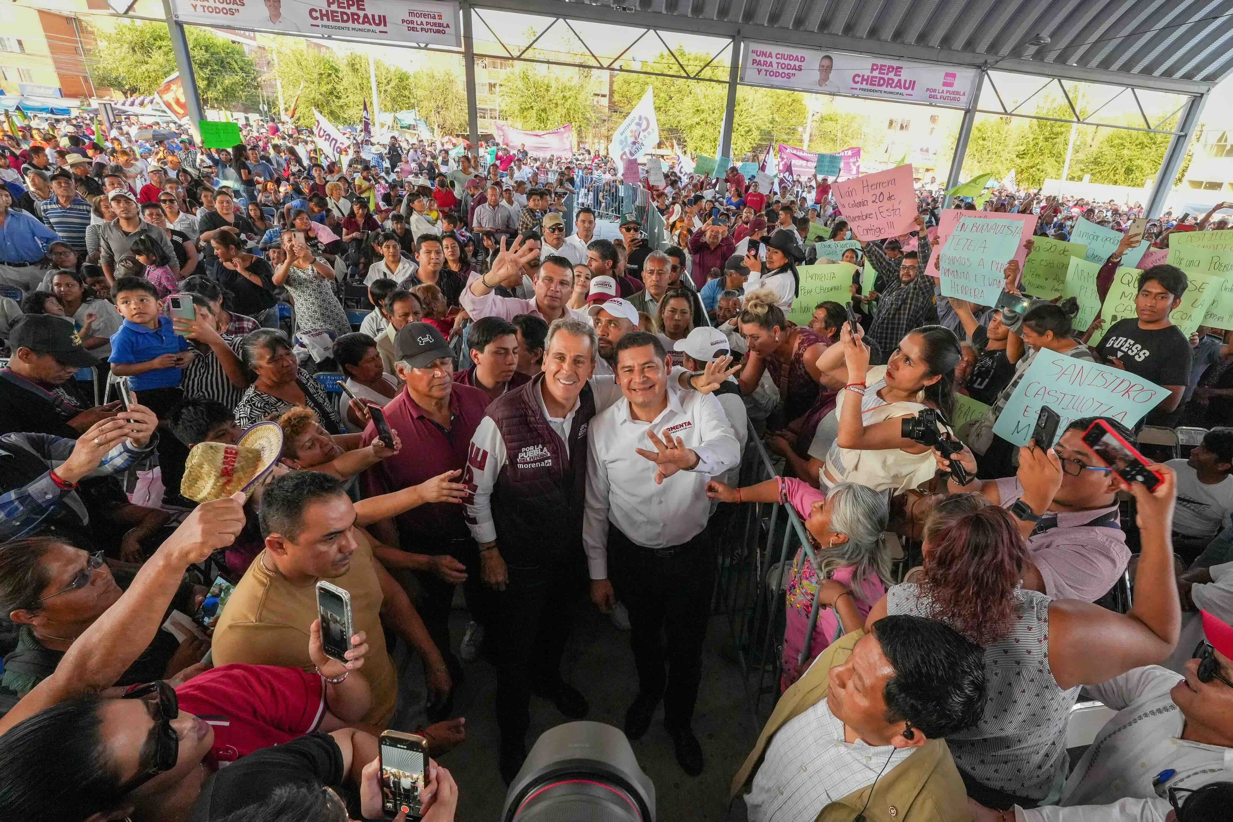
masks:
<path fill-rule="evenodd" d="M 707 527 L 707 481 L 741 458 L 740 444 L 718 399 L 682 391 L 672 377 L 667 391 L 668 404 L 651 423 L 635 420 L 624 397 L 591 421 L 582 541 L 592 579 L 608 578 L 609 520 L 644 547 L 683 545 Z M 678 471 L 663 484 L 655 484 L 656 465 L 635 451 L 655 451 L 649 430 L 657 436 L 668 431 L 683 440 L 698 455 L 693 471 Z"/>

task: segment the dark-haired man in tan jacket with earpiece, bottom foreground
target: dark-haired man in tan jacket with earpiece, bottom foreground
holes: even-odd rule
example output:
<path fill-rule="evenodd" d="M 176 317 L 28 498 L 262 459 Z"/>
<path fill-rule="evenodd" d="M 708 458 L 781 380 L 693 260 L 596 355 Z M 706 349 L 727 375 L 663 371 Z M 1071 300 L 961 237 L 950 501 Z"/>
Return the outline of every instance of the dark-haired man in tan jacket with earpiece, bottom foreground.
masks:
<path fill-rule="evenodd" d="M 944 738 L 985 706 L 984 651 L 890 616 L 832 643 L 776 705 L 732 780 L 750 822 L 969 822 Z"/>

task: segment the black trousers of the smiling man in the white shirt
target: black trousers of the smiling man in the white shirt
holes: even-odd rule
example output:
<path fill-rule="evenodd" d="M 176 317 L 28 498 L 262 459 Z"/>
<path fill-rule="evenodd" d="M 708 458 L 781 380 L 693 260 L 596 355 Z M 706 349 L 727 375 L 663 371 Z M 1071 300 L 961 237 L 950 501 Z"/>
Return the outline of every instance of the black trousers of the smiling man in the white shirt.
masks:
<path fill-rule="evenodd" d="M 671 556 L 668 556 L 671 551 Z M 608 529 L 608 576 L 629 609 L 639 690 L 663 696 L 663 721 L 689 727 L 702 682 L 702 646 L 715 588 L 709 526 L 684 545 L 655 551 Z"/>

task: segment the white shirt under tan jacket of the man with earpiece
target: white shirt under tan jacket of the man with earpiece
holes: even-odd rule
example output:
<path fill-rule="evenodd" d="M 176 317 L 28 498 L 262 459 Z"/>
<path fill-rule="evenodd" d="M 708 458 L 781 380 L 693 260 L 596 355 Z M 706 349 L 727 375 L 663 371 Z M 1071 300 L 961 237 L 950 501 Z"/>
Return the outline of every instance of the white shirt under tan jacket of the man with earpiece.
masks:
<path fill-rule="evenodd" d="M 847 742 L 843 723 L 825 699 L 817 700 L 771 738 L 745 795 L 750 822 L 814 822 L 830 802 L 872 784 L 883 768 L 889 773 L 914 752 Z"/>

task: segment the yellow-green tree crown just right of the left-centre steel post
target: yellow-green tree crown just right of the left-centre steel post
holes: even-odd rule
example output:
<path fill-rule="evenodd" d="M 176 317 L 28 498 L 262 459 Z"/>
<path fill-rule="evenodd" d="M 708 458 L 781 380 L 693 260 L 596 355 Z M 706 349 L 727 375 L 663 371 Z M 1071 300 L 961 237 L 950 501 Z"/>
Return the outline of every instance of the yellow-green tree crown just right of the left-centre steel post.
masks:
<path fill-rule="evenodd" d="M 589 69 L 552 73 L 523 63 L 501 80 L 501 113 L 517 128 L 543 131 L 571 123 L 578 132 L 597 118 Z"/>

